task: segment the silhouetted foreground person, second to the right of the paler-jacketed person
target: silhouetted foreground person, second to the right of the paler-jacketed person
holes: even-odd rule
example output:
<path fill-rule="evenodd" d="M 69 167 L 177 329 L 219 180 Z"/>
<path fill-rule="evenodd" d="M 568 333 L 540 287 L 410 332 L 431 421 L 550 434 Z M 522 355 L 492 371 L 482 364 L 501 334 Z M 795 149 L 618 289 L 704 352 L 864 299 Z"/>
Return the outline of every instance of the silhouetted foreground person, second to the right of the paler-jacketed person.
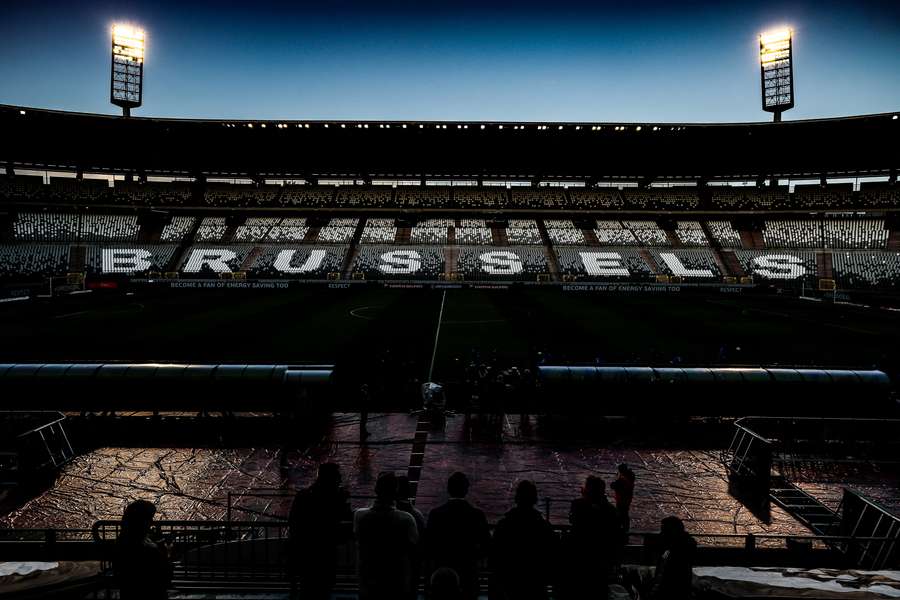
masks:
<path fill-rule="evenodd" d="M 537 486 L 520 481 L 516 505 L 494 529 L 491 572 L 500 597 L 506 600 L 545 600 L 552 577 L 556 534 L 535 509 Z"/>

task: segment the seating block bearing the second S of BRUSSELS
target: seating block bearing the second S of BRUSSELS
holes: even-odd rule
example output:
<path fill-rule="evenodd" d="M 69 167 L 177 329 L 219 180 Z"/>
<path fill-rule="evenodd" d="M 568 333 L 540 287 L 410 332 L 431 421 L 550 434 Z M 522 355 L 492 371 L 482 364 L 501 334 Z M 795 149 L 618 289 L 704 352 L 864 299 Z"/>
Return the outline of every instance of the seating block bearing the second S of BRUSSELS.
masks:
<path fill-rule="evenodd" d="M 550 272 L 544 249 L 534 246 L 462 246 L 456 270 L 464 279 L 476 281 L 534 281 L 538 275 Z"/>

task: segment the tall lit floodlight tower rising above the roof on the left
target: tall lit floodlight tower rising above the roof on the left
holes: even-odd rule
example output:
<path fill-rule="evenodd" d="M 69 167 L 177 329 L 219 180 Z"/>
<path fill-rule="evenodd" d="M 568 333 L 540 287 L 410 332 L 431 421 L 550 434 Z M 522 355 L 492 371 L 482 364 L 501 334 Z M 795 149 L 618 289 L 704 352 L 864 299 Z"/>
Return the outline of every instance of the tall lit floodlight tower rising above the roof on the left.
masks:
<path fill-rule="evenodd" d="M 144 31 L 117 24 L 112 33 L 112 72 L 109 101 L 122 107 L 122 116 L 141 105 L 144 94 Z"/>

